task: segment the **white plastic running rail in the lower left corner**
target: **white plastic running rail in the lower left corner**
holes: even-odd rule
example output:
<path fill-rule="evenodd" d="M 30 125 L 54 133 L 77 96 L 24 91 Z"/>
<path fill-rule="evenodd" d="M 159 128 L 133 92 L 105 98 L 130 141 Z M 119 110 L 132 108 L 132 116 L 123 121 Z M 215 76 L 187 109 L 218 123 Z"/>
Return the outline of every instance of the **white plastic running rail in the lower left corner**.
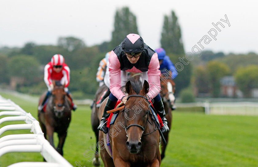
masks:
<path fill-rule="evenodd" d="M 8 130 L 29 129 L 31 134 L 14 134 L 0 138 L 0 158 L 10 152 L 38 152 L 46 162 L 18 162 L 8 167 L 72 167 L 44 138 L 39 122 L 21 107 L 0 96 L 0 124 L 6 121 L 25 121 L 26 124 L 6 125 L 0 128 L 0 136 Z"/>

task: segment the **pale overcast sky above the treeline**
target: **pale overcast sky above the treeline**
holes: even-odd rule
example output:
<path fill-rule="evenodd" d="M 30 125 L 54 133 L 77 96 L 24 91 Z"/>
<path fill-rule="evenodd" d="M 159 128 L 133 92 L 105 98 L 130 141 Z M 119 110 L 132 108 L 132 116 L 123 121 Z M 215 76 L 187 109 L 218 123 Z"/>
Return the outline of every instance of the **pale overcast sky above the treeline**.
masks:
<path fill-rule="evenodd" d="M 22 47 L 27 42 L 57 44 L 58 37 L 73 36 L 87 46 L 111 40 L 115 11 L 128 6 L 136 15 L 139 35 L 151 48 L 160 47 L 164 15 L 174 10 L 181 26 L 185 51 L 208 31 L 212 23 L 225 28 L 204 49 L 225 53 L 258 53 L 258 2 L 207 0 L 1 0 L 0 47 Z M 230 23 L 220 21 L 225 18 Z M 220 26 L 219 26 L 220 27 Z"/>

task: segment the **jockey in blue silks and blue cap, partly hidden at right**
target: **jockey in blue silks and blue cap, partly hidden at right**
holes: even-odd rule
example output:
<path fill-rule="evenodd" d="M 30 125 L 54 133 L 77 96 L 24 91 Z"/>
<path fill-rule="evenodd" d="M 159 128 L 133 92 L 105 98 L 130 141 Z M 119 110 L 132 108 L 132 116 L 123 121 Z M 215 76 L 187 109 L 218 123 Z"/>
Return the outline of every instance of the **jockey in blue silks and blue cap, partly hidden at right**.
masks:
<path fill-rule="evenodd" d="M 166 55 L 166 51 L 160 47 L 158 49 L 155 50 L 155 52 L 158 54 L 158 61 L 159 61 L 159 70 L 161 72 L 161 74 L 168 74 L 168 77 L 170 77 L 171 79 L 174 79 L 178 73 L 177 70 L 174 66 L 174 64 L 171 62 L 171 60 L 169 59 L 169 57 Z M 171 77 L 173 76 L 173 77 Z M 172 92 L 172 85 L 170 83 L 168 83 L 168 90 L 169 90 L 169 99 L 170 99 L 170 104 L 171 104 L 171 109 L 174 110 L 176 107 L 174 105 L 175 102 L 175 96 Z"/>

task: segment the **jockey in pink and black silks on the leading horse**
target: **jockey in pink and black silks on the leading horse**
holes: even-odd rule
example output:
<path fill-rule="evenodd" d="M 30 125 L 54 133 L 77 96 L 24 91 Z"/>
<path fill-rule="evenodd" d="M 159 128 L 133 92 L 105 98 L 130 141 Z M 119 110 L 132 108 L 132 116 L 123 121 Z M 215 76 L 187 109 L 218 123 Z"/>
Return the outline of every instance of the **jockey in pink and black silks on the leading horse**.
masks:
<path fill-rule="evenodd" d="M 105 124 L 109 116 L 107 111 L 115 107 L 118 99 L 124 103 L 126 102 L 127 97 L 124 96 L 120 88 L 127 80 L 127 73 L 136 72 L 141 74 L 143 81 L 148 81 L 150 89 L 147 93 L 147 97 L 149 100 L 153 99 L 153 106 L 162 119 L 164 124 L 162 132 L 168 131 L 169 128 L 165 118 L 165 111 L 159 95 L 161 89 L 159 77 L 161 74 L 159 71 L 157 53 L 143 42 L 142 37 L 137 34 L 129 34 L 119 46 L 111 51 L 108 61 L 110 77 L 109 88 L 111 93 L 104 108 L 98 129 L 104 133 L 108 132 Z"/>

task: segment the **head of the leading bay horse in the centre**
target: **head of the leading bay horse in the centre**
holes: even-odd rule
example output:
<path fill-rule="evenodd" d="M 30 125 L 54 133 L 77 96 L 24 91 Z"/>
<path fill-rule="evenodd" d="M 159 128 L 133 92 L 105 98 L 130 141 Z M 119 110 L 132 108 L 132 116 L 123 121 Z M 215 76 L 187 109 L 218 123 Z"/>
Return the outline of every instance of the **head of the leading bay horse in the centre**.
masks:
<path fill-rule="evenodd" d="M 125 88 L 129 95 L 124 112 L 125 129 L 128 136 L 126 146 L 130 153 L 139 153 L 142 146 L 141 137 L 150 112 L 149 104 L 144 98 L 148 92 L 149 84 L 145 80 L 142 88 L 140 82 L 128 81 Z"/>

